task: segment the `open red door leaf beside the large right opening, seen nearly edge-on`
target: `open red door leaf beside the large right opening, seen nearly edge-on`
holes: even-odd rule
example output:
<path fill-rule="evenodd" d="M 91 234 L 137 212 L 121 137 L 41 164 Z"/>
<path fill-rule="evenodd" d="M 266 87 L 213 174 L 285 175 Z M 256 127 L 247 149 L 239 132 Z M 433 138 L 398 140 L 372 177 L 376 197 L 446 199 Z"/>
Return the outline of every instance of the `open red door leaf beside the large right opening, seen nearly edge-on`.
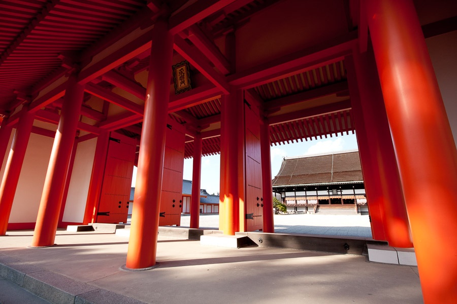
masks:
<path fill-rule="evenodd" d="M 262 165 L 260 162 L 260 123 L 257 108 L 245 103 L 245 143 L 246 143 L 246 231 L 262 229 Z"/>

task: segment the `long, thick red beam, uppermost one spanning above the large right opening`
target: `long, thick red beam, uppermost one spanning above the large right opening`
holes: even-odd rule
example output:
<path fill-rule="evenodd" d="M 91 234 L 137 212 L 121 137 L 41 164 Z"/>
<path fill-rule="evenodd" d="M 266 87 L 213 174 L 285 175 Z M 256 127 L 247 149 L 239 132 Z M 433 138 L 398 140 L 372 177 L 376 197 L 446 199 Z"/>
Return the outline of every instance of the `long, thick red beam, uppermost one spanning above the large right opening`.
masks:
<path fill-rule="evenodd" d="M 353 31 L 332 41 L 230 75 L 227 77 L 227 81 L 230 85 L 248 89 L 298 72 L 334 63 L 351 54 L 352 46 L 356 41 L 357 32 Z"/>

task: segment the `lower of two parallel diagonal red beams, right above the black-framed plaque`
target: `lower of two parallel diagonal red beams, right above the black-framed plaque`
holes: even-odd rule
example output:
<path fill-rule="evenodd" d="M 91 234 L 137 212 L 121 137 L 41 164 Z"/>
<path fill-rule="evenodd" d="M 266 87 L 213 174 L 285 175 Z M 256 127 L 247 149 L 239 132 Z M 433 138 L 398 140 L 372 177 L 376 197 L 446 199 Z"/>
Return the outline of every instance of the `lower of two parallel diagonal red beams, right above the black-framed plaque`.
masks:
<path fill-rule="evenodd" d="M 219 88 L 222 93 L 228 94 L 228 83 L 224 75 L 217 72 L 208 61 L 208 58 L 195 46 L 189 45 L 184 39 L 175 36 L 174 49 L 197 68 L 208 80 Z"/>

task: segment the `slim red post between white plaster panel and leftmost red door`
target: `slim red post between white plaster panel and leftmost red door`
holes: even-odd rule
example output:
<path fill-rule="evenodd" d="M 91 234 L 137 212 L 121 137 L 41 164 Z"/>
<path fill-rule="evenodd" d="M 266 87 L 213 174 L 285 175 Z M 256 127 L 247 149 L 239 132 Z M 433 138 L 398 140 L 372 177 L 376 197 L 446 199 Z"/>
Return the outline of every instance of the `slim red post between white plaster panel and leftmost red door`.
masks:
<path fill-rule="evenodd" d="M 90 176 L 90 184 L 87 193 L 86 209 L 84 211 L 83 223 L 93 223 L 97 203 L 100 201 L 102 192 L 103 174 L 108 153 L 109 132 L 104 132 L 97 138 L 95 146 L 95 155 L 92 165 L 92 174 Z"/>

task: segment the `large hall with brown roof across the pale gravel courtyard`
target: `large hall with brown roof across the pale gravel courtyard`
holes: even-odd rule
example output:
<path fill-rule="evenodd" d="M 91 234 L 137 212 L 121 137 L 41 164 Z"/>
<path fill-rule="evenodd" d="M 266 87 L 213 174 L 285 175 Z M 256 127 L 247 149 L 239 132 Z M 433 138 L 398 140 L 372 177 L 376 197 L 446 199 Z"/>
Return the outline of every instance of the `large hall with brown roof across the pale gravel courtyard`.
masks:
<path fill-rule="evenodd" d="M 315 213 L 338 207 L 368 214 L 357 150 L 285 157 L 272 183 L 287 212 Z"/>

